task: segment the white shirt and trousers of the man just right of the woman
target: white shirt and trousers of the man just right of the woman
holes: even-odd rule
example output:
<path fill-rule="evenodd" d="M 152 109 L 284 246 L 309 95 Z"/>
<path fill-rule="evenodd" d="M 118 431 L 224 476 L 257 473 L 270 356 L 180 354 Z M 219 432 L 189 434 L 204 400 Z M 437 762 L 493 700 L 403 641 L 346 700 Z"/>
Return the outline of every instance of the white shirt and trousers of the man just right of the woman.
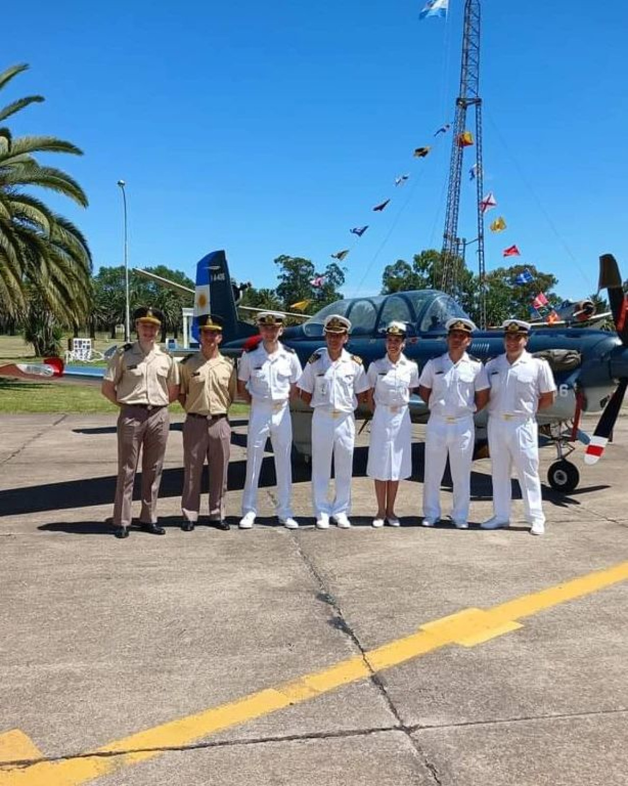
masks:
<path fill-rule="evenodd" d="M 425 364 L 418 381 L 432 391 L 425 428 L 423 516 L 433 521 L 440 519 L 440 482 L 448 455 L 454 486 L 451 518 L 455 523 L 463 523 L 469 518 L 471 499 L 475 395 L 488 387 L 484 366 L 466 352 L 454 363 L 446 352 Z"/>

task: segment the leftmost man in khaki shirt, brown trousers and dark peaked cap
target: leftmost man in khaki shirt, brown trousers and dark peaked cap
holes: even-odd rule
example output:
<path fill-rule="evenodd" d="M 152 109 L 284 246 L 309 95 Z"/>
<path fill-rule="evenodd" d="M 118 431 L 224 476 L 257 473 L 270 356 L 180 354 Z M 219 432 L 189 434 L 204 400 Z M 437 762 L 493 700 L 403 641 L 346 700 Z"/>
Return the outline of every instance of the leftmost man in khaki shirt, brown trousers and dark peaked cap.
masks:
<path fill-rule="evenodd" d="M 142 529 L 166 534 L 157 524 L 157 497 L 170 428 L 168 404 L 177 399 L 177 363 L 155 343 L 162 313 L 141 307 L 133 312 L 137 341 L 125 344 L 109 361 L 102 394 L 120 407 L 118 483 L 113 524 L 116 538 L 126 538 L 132 520 L 133 481 L 142 453 Z"/>

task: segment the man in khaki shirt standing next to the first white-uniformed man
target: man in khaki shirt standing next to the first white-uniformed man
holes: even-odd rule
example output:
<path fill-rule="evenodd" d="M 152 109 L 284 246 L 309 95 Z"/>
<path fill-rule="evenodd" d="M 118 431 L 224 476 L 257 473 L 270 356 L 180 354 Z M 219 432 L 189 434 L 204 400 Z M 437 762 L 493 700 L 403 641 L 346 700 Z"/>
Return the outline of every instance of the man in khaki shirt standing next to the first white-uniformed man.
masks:
<path fill-rule="evenodd" d="M 219 351 L 221 319 L 199 317 L 201 351 L 181 361 L 179 401 L 188 417 L 183 426 L 184 481 L 181 529 L 191 532 L 199 520 L 201 476 L 207 459 L 210 473 L 210 521 L 228 530 L 225 521 L 227 470 L 231 449 L 228 410 L 235 399 L 235 367 Z"/>

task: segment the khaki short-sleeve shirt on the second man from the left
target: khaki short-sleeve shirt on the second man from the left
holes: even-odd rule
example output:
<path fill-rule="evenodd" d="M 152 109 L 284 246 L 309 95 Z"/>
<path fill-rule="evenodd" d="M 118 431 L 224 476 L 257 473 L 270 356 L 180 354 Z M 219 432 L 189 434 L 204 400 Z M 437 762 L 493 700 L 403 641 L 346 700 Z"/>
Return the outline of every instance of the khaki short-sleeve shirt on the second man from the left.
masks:
<path fill-rule="evenodd" d="M 203 352 L 197 352 L 181 361 L 181 394 L 186 412 L 226 415 L 236 390 L 235 366 L 224 355 L 207 360 Z"/>

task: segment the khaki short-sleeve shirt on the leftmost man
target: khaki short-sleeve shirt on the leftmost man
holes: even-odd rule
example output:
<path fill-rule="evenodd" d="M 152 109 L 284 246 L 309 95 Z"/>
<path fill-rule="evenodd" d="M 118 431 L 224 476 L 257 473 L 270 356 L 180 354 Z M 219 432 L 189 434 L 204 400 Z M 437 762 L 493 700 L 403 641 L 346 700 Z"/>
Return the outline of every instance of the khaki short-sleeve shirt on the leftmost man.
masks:
<path fill-rule="evenodd" d="M 179 384 L 179 369 L 174 358 L 159 346 L 144 353 L 140 342 L 135 341 L 114 354 L 104 380 L 115 385 L 119 404 L 167 406 L 168 388 Z"/>

